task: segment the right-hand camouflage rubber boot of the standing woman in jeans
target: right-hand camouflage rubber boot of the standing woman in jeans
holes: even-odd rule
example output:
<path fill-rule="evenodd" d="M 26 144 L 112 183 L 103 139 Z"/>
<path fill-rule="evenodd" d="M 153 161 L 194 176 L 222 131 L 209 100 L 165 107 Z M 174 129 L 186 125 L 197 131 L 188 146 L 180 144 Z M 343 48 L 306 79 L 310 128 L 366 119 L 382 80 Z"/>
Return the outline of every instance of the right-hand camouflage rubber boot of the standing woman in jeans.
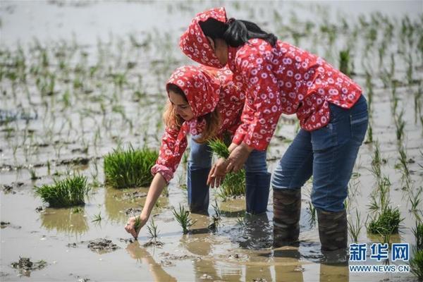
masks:
<path fill-rule="evenodd" d="M 317 209 L 319 221 L 319 238 L 322 252 L 341 251 L 347 249 L 348 225 L 347 212 L 325 212 Z"/>

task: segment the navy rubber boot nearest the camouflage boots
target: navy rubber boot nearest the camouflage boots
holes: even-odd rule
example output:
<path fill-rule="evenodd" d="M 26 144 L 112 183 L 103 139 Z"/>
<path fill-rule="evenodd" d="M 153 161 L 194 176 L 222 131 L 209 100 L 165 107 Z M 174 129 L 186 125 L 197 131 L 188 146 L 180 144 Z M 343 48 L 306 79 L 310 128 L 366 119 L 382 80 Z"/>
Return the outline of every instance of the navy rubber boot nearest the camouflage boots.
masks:
<path fill-rule="evenodd" d="M 269 202 L 270 173 L 245 173 L 245 204 L 248 214 L 263 214 Z"/>

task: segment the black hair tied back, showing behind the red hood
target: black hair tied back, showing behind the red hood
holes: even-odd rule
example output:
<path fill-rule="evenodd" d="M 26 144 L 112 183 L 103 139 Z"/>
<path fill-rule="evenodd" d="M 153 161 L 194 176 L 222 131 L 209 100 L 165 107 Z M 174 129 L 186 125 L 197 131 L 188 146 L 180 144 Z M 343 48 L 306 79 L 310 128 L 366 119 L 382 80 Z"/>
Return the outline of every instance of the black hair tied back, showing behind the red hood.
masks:
<path fill-rule="evenodd" d="M 199 24 L 204 35 L 213 40 L 216 38 L 223 39 L 231 47 L 240 47 L 252 38 L 264 39 L 274 47 L 276 40 L 278 40 L 278 37 L 273 33 L 267 33 L 255 23 L 247 20 L 231 18 L 228 23 L 222 23 L 214 18 L 209 18 L 204 22 L 200 21 Z"/>

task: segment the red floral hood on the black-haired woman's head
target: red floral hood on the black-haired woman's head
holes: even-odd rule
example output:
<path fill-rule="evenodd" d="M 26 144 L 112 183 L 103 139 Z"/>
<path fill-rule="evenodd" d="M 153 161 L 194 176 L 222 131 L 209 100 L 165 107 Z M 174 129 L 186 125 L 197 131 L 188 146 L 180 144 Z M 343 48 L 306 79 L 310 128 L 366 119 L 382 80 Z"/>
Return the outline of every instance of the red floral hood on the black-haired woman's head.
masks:
<path fill-rule="evenodd" d="M 179 40 L 179 47 L 185 55 L 190 59 L 201 63 L 205 66 L 211 66 L 214 68 L 223 68 L 223 65 L 217 59 L 212 47 L 207 40 L 207 37 L 202 32 L 199 22 L 206 21 L 209 18 L 214 18 L 222 23 L 226 23 L 226 11 L 225 8 L 212 8 L 208 11 L 198 13 L 195 18 L 192 19 L 188 29 L 185 30 Z"/>

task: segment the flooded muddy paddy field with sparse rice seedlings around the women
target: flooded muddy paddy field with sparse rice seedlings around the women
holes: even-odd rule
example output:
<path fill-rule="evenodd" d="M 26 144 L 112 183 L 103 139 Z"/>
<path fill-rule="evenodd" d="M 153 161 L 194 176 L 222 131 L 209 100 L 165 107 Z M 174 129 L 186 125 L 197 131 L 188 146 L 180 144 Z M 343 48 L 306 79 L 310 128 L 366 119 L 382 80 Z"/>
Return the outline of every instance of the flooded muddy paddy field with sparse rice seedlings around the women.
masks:
<path fill-rule="evenodd" d="M 225 6 L 228 16 L 333 66 L 343 62 L 362 86 L 370 120 L 345 202 L 349 243 L 410 243 L 412 257 L 412 228 L 423 219 L 422 3 L 358 3 L 1 1 L 0 280 L 417 281 L 408 272 L 357 274 L 324 262 L 311 182 L 302 188 L 299 247 L 276 248 L 272 195 L 266 215 L 250 217 L 243 198 L 223 200 L 212 189 L 209 216 L 190 214 L 195 223 L 183 233 L 172 208 L 188 207 L 188 152 L 154 207 L 155 242 L 147 226 L 137 240 L 123 229 L 148 188 L 104 181 L 104 156 L 114 149 L 159 149 L 165 82 L 178 66 L 194 64 L 178 37 L 195 13 Z M 270 172 L 298 128 L 295 116 L 281 117 Z M 48 207 L 35 192 L 73 175 L 87 177 L 85 205 Z M 400 212 L 398 233 L 368 232 L 381 197 Z M 211 228 L 215 199 L 221 221 Z"/>

